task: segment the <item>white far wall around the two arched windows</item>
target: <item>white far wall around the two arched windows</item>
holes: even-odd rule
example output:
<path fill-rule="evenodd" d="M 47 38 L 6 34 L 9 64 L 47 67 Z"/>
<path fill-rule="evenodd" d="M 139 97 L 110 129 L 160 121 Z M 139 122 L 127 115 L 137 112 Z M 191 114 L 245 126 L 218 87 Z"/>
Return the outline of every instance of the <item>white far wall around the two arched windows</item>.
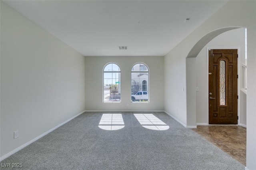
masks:
<path fill-rule="evenodd" d="M 121 103 L 102 102 L 103 67 L 110 62 L 121 69 Z M 131 103 L 131 69 L 135 63 L 149 68 L 150 103 Z M 85 57 L 86 111 L 163 111 L 164 57 Z"/>

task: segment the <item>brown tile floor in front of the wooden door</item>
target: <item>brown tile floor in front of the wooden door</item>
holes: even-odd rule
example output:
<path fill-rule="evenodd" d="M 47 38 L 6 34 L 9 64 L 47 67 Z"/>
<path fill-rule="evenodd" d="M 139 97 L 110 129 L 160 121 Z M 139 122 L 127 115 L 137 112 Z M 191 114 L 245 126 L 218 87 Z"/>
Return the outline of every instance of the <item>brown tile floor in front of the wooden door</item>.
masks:
<path fill-rule="evenodd" d="M 246 166 L 246 128 L 210 125 L 193 130 Z"/>

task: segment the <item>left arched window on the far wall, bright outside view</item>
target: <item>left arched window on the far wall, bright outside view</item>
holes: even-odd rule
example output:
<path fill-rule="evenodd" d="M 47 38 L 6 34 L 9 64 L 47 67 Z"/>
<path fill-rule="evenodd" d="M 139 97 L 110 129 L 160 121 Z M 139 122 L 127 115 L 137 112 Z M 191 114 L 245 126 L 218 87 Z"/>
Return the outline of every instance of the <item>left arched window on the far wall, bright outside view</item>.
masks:
<path fill-rule="evenodd" d="M 121 102 L 121 70 L 116 63 L 108 63 L 103 69 L 103 102 Z"/>

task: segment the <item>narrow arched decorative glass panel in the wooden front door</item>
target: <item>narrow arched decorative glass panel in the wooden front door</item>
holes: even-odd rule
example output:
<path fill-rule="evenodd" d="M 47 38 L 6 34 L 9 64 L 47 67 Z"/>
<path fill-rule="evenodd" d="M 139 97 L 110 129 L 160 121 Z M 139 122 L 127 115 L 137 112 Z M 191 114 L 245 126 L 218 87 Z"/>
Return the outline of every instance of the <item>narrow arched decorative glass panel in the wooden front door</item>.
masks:
<path fill-rule="evenodd" d="M 220 105 L 226 105 L 226 62 L 220 61 Z"/>

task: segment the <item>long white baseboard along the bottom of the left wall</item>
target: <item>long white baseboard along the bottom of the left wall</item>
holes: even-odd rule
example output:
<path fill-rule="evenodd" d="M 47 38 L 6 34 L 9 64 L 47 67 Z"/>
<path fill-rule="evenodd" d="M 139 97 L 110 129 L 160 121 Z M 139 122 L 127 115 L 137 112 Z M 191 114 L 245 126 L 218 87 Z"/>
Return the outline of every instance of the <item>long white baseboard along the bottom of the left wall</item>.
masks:
<path fill-rule="evenodd" d="M 48 130 L 47 132 L 44 132 L 43 134 L 37 136 L 37 137 L 34 138 L 34 139 L 30 140 L 29 142 L 26 142 L 26 143 L 23 144 L 22 146 L 20 146 L 20 147 L 14 149 L 14 150 L 12 150 L 12 151 L 9 152 L 8 154 L 2 156 L 2 157 L 0 158 L 0 162 L 1 162 L 2 160 L 4 160 L 4 159 L 8 158 L 8 157 L 11 156 L 12 154 L 18 152 L 19 150 L 22 150 L 22 149 L 25 148 L 26 146 L 32 144 L 32 143 L 35 142 L 36 140 L 42 138 L 42 137 L 45 136 L 46 134 L 52 132 L 52 131 L 55 130 L 56 128 L 61 127 L 61 126 L 64 125 L 65 123 L 68 123 L 69 121 L 71 121 L 72 119 L 78 117 L 79 115 L 81 115 L 81 114 L 84 113 L 84 112 L 85 112 L 85 111 L 82 111 L 81 113 L 78 113 L 78 115 L 76 115 L 76 116 L 74 116 L 74 117 L 68 119 L 67 121 L 61 123 L 60 125 L 57 125 L 56 127 L 52 128 L 52 129 L 50 129 L 50 130 Z"/>

